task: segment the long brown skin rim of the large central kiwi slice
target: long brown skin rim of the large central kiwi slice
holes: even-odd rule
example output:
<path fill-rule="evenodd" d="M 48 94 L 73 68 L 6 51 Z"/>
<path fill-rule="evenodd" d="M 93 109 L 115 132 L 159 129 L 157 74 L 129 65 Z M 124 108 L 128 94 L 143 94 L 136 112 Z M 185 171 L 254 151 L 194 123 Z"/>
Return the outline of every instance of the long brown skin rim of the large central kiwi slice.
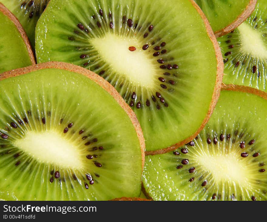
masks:
<path fill-rule="evenodd" d="M 177 144 L 174 144 L 174 145 L 172 145 L 170 147 L 161 149 L 161 150 L 146 151 L 145 152 L 146 155 L 155 155 L 155 154 L 167 153 L 167 152 L 175 150 L 178 147 L 181 147 L 184 144 L 187 144 L 191 140 L 193 140 L 200 133 L 200 131 L 204 128 L 204 126 L 208 123 L 208 120 L 211 117 L 211 114 L 213 113 L 215 105 L 217 104 L 217 101 L 218 101 L 219 96 L 220 96 L 222 78 L 223 78 L 223 70 L 224 70 L 224 63 L 223 63 L 223 58 L 222 58 L 222 54 L 221 54 L 221 49 L 219 47 L 219 44 L 218 44 L 218 42 L 216 40 L 216 37 L 214 35 L 214 32 L 213 32 L 213 30 L 212 30 L 212 28 L 210 26 L 210 23 L 209 23 L 208 19 L 206 18 L 206 16 L 204 15 L 204 13 L 200 9 L 200 7 L 193 0 L 190 0 L 190 2 L 195 7 L 197 12 L 200 14 L 201 18 L 203 19 L 204 25 L 206 27 L 206 31 L 208 33 L 208 36 L 209 36 L 211 42 L 213 43 L 213 47 L 214 47 L 215 53 L 216 53 L 217 76 L 216 76 L 215 87 L 214 87 L 211 103 L 210 103 L 210 106 L 209 106 L 209 109 L 208 109 L 208 113 L 205 116 L 204 120 L 202 121 L 201 126 L 198 128 L 198 130 L 191 137 L 189 137 L 189 138 L 187 138 L 187 139 L 185 139 L 185 140 L 183 140 L 183 141 L 181 141 L 181 142 L 179 142 Z"/>

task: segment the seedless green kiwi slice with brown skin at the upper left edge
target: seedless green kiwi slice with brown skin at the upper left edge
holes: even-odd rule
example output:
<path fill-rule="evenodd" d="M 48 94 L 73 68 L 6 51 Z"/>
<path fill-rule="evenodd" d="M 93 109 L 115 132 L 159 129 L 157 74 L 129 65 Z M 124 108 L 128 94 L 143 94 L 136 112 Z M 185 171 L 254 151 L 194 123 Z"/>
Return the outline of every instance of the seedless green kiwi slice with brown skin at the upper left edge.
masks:
<path fill-rule="evenodd" d="M 0 73 L 35 64 L 28 37 L 18 19 L 0 2 Z"/>

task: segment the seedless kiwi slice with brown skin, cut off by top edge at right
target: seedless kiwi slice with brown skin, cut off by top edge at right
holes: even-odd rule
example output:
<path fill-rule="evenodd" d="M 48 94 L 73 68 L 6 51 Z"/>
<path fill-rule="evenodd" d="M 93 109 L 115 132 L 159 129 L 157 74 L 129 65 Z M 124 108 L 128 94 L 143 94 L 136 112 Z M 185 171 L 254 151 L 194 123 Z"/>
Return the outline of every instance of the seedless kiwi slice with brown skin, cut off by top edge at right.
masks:
<path fill-rule="evenodd" d="M 253 12 L 257 0 L 195 0 L 207 16 L 216 37 L 231 32 Z"/>

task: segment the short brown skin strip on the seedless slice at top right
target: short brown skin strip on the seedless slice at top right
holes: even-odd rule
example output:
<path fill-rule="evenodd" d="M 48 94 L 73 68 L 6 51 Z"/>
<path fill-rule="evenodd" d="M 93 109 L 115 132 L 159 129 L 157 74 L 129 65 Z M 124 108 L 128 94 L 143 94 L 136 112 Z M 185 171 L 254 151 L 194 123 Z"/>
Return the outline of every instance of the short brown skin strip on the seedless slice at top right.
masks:
<path fill-rule="evenodd" d="M 232 32 L 237 26 L 239 26 L 241 23 L 243 23 L 251 15 L 251 13 L 254 11 L 256 3 L 257 3 L 257 0 L 250 0 L 247 7 L 235 19 L 235 21 L 233 21 L 231 24 L 229 24 L 225 28 L 215 32 L 216 38 L 218 38 L 220 36 L 224 36 L 229 32 Z"/>

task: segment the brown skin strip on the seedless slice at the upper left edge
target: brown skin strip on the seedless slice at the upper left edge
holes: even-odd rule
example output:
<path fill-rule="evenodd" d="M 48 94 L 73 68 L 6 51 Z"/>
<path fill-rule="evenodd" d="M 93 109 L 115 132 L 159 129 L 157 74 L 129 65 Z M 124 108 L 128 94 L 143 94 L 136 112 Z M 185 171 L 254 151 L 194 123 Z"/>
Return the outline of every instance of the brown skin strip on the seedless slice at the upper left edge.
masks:
<path fill-rule="evenodd" d="M 29 53 L 29 56 L 30 56 L 32 65 L 33 64 L 36 64 L 35 57 L 34 57 L 34 52 L 32 50 L 32 47 L 31 47 L 31 43 L 29 41 L 29 38 L 28 38 L 27 34 L 25 33 L 25 30 L 22 27 L 22 25 L 20 24 L 19 20 L 17 19 L 17 17 L 14 16 L 14 14 L 12 12 L 10 12 L 1 2 L 0 2 L 0 11 L 5 16 L 7 16 L 15 24 L 15 26 L 19 30 L 19 33 L 20 33 L 20 35 L 22 37 L 22 40 L 24 41 L 24 43 L 25 43 L 25 45 L 27 47 L 27 51 Z"/>

